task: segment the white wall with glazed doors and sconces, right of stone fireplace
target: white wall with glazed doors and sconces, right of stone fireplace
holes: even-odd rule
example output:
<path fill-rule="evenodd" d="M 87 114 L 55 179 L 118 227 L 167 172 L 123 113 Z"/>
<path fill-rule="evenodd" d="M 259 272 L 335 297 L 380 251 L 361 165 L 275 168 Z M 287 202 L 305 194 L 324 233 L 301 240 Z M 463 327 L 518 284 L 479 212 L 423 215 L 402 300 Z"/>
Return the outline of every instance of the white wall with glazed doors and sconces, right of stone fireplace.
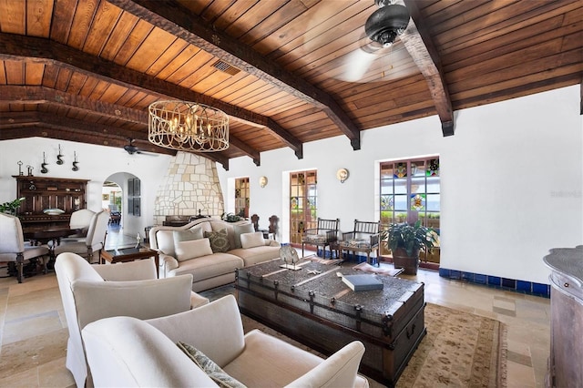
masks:
<path fill-rule="evenodd" d="M 230 179 L 250 177 L 250 214 L 281 218 L 278 239 L 289 240 L 289 171 L 318 170 L 322 218 L 378 220 L 380 160 L 439 155 L 442 181 L 441 265 L 460 271 L 548 283 L 542 258 L 553 247 L 583 243 L 583 118 L 579 86 L 455 112 L 455 136 L 444 138 L 437 117 L 362 132 L 353 151 L 348 138 L 304 144 L 218 165 L 223 192 Z M 350 178 L 340 183 L 338 168 Z M 259 178 L 269 184 L 261 189 Z M 225 199 L 229 209 L 232 198 Z"/>

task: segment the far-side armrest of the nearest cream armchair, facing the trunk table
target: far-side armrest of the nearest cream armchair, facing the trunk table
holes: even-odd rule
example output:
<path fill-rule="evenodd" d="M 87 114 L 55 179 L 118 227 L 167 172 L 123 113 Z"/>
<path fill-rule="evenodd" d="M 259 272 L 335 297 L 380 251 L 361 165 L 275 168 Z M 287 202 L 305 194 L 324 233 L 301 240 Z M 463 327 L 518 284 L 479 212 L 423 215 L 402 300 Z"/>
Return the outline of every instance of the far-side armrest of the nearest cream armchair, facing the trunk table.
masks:
<path fill-rule="evenodd" d="M 245 337 L 237 301 L 224 296 L 186 312 L 148 320 L 172 342 L 185 342 L 205 353 L 220 367 L 243 351 Z"/>

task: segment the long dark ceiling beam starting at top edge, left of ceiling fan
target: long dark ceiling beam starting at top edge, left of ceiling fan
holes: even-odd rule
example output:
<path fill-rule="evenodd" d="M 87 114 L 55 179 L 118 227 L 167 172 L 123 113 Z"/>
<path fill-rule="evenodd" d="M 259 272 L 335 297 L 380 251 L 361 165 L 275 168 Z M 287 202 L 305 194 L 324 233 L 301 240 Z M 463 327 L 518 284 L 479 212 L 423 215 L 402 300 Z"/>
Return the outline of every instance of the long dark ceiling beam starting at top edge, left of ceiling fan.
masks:
<path fill-rule="evenodd" d="M 301 77 L 297 77 L 253 50 L 237 39 L 216 30 L 199 15 L 174 1 L 149 0 L 108 0 L 124 11 L 138 16 L 153 26 L 184 39 L 191 45 L 216 56 L 244 72 L 270 83 L 292 96 L 312 104 L 330 117 L 353 146 L 360 149 L 360 130 L 342 107 L 329 94 L 314 87 Z M 297 155 L 297 151 L 296 151 Z"/>

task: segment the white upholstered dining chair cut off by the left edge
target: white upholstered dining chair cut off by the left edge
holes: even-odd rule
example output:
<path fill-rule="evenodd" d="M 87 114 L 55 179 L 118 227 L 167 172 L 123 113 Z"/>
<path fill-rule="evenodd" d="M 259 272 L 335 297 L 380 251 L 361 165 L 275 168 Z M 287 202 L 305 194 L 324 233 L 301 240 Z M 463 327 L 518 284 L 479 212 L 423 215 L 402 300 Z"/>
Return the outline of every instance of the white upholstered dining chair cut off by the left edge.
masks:
<path fill-rule="evenodd" d="M 19 283 L 24 278 L 25 260 L 35 262 L 40 258 L 46 273 L 48 255 L 46 245 L 34 246 L 25 242 L 22 224 L 17 217 L 0 213 L 0 262 L 15 263 L 16 279 Z"/>

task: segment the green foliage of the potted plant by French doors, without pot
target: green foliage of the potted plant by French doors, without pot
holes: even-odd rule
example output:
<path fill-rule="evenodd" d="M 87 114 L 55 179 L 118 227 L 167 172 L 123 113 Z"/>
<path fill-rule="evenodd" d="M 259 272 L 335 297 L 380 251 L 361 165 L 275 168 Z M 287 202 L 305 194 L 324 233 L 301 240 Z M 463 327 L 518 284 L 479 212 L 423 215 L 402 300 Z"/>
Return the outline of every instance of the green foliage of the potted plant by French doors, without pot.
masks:
<path fill-rule="evenodd" d="M 439 236 L 435 230 L 421 225 L 417 221 L 414 225 L 407 223 L 391 224 L 383 232 L 383 240 L 386 239 L 387 247 L 393 252 L 399 248 L 404 249 L 407 255 L 414 257 L 419 250 L 431 250 L 439 245 Z"/>

